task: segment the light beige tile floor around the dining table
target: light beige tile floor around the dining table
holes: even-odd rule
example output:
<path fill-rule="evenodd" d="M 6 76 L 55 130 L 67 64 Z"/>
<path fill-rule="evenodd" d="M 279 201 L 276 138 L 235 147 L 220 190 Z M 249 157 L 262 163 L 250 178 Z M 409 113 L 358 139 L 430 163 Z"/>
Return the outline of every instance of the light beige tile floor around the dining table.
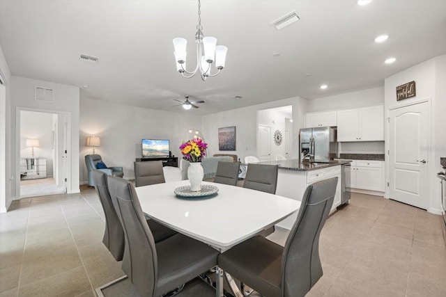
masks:
<path fill-rule="evenodd" d="M 93 188 L 25 198 L 0 214 L 1 296 L 95 296 L 121 275 L 102 244 L 104 214 Z M 324 275 L 307 296 L 446 296 L 441 217 L 354 194 L 323 227 Z M 284 244 L 285 230 L 270 235 Z"/>

